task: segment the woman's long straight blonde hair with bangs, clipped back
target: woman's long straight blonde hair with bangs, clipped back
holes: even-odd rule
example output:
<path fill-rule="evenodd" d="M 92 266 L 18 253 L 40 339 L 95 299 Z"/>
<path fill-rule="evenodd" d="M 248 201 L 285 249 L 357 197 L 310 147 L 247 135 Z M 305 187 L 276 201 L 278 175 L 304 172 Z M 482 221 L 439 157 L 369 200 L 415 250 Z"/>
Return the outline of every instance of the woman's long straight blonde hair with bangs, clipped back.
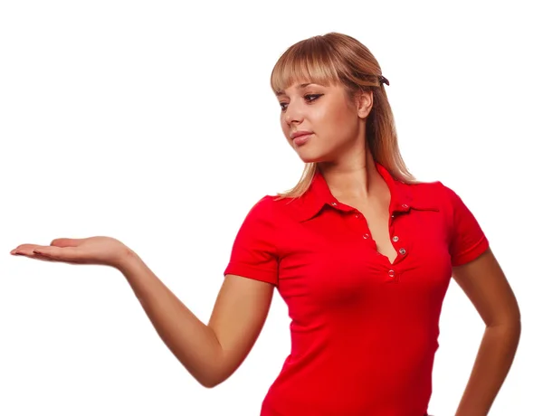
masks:
<path fill-rule="evenodd" d="M 297 80 L 321 85 L 339 83 L 351 98 L 358 90 L 373 91 L 373 107 L 366 124 L 367 147 L 374 160 L 385 166 L 395 179 L 409 184 L 418 182 L 400 155 L 381 67 L 365 45 L 342 33 L 327 33 L 293 44 L 271 71 L 271 89 L 277 94 Z M 298 184 L 277 194 L 278 199 L 304 194 L 316 171 L 317 163 L 306 163 Z"/>

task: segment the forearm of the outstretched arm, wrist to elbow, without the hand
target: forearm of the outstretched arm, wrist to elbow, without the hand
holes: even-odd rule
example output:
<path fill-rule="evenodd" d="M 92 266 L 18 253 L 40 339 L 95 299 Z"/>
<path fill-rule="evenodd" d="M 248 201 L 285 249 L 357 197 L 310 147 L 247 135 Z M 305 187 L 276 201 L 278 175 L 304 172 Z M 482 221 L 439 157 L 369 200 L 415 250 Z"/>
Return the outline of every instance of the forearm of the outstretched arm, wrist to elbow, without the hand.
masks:
<path fill-rule="evenodd" d="M 170 351 L 199 383 L 213 386 L 216 374 L 220 373 L 222 357 L 213 329 L 176 298 L 133 251 L 119 266 L 119 271 Z"/>

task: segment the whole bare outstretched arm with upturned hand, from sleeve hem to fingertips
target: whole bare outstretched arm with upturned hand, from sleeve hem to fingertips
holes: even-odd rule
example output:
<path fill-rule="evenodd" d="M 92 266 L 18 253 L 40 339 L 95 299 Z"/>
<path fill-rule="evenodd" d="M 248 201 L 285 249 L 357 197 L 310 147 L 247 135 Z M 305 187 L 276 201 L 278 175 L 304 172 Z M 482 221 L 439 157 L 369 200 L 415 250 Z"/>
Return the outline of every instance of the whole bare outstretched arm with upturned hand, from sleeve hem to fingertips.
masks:
<path fill-rule="evenodd" d="M 268 315 L 274 285 L 228 274 L 205 325 L 120 241 L 110 237 L 56 239 L 50 246 L 22 244 L 13 255 L 31 259 L 100 264 L 119 269 L 158 335 L 196 381 L 224 382 L 243 363 Z"/>

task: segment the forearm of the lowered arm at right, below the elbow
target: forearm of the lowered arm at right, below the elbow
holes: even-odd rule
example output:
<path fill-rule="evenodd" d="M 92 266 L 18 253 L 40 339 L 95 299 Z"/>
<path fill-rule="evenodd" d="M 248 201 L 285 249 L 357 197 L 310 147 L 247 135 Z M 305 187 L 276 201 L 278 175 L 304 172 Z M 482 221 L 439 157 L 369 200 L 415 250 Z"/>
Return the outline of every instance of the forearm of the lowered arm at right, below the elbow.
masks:
<path fill-rule="evenodd" d="M 486 416 L 509 373 L 519 345 L 520 322 L 488 326 L 455 416 Z"/>

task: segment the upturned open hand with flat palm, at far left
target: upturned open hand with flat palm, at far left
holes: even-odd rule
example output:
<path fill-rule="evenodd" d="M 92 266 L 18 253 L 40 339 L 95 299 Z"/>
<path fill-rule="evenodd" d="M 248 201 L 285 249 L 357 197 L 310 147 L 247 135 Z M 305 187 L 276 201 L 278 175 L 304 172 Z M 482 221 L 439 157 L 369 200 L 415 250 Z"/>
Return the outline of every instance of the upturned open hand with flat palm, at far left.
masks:
<path fill-rule="evenodd" d="M 45 261 L 75 264 L 100 264 L 118 269 L 132 251 L 111 237 L 86 239 L 55 239 L 49 246 L 21 244 L 11 251 L 13 255 Z"/>

